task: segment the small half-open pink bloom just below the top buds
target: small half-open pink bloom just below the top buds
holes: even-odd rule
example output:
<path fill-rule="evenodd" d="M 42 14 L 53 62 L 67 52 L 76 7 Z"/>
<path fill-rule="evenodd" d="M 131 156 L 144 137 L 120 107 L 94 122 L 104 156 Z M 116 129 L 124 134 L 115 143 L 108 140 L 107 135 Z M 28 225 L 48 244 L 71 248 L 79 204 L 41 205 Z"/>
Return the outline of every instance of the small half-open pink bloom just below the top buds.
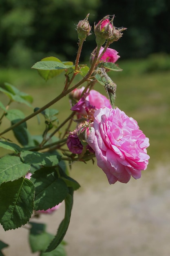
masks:
<path fill-rule="evenodd" d="M 101 47 L 99 50 L 99 56 L 100 54 L 102 54 L 103 50 L 104 47 Z M 118 52 L 115 49 L 107 48 L 102 58 L 100 58 L 100 61 L 115 63 L 118 60 L 118 58 L 120 58 L 120 56 L 118 55 Z"/>

